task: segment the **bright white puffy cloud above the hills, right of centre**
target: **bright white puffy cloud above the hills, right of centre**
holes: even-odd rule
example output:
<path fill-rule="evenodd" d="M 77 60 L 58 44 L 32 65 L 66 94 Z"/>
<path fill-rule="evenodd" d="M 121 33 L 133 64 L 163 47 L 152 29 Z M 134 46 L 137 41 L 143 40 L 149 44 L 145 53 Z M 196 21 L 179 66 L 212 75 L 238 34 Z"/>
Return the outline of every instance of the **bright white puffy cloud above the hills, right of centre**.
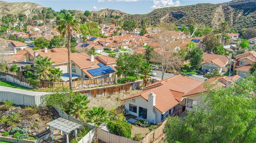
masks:
<path fill-rule="evenodd" d="M 152 2 L 154 2 L 154 5 L 150 7 L 151 10 L 170 6 L 180 6 L 180 1 L 178 0 L 176 2 L 173 2 L 172 0 L 152 0 Z"/>

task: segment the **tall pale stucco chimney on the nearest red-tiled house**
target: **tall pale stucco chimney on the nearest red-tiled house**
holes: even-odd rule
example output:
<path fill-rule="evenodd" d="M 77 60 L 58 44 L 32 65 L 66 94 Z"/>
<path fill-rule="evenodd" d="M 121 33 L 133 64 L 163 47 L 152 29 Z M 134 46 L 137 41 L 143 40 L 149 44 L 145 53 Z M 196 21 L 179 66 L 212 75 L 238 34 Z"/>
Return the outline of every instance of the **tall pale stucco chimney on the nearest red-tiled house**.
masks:
<path fill-rule="evenodd" d="M 151 92 L 148 94 L 148 111 L 147 111 L 147 119 L 151 123 L 156 123 L 156 112 L 154 111 L 154 105 L 156 105 L 156 94 Z"/>

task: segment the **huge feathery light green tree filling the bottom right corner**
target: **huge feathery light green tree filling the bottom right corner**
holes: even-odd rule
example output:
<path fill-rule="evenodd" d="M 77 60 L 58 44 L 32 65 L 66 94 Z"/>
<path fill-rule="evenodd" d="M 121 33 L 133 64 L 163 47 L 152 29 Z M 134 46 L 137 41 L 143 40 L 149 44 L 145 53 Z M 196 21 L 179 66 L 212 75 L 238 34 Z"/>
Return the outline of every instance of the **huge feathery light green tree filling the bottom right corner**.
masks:
<path fill-rule="evenodd" d="M 167 119 L 168 143 L 256 142 L 255 78 L 242 78 L 226 88 L 208 84 L 208 91 L 202 94 L 193 111 L 183 118 Z"/>

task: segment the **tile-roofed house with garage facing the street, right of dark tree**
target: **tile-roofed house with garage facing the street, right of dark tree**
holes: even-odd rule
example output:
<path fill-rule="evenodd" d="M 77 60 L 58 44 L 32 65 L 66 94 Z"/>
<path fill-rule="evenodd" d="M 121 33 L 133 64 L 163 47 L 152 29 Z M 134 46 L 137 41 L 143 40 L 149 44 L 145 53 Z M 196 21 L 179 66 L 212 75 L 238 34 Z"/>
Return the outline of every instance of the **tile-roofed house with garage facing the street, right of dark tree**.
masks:
<path fill-rule="evenodd" d="M 218 54 L 211 54 L 211 53 L 204 53 L 202 59 L 204 61 L 202 64 L 202 69 L 216 69 L 219 72 L 227 72 L 228 65 L 231 61 L 231 55 L 218 55 Z"/>

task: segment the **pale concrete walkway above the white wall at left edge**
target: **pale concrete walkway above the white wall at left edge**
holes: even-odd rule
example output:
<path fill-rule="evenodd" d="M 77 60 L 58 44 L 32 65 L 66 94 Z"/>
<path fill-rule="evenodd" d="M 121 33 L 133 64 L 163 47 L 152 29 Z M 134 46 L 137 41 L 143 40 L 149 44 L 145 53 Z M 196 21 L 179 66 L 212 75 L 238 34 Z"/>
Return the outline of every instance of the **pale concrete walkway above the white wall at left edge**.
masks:
<path fill-rule="evenodd" d="M 48 94 L 48 92 L 29 91 L 29 90 L 22 90 L 22 89 L 11 88 L 6 86 L 0 86 L 0 91 L 14 92 L 14 93 L 26 94 L 31 96 L 40 96 L 40 95 Z"/>

